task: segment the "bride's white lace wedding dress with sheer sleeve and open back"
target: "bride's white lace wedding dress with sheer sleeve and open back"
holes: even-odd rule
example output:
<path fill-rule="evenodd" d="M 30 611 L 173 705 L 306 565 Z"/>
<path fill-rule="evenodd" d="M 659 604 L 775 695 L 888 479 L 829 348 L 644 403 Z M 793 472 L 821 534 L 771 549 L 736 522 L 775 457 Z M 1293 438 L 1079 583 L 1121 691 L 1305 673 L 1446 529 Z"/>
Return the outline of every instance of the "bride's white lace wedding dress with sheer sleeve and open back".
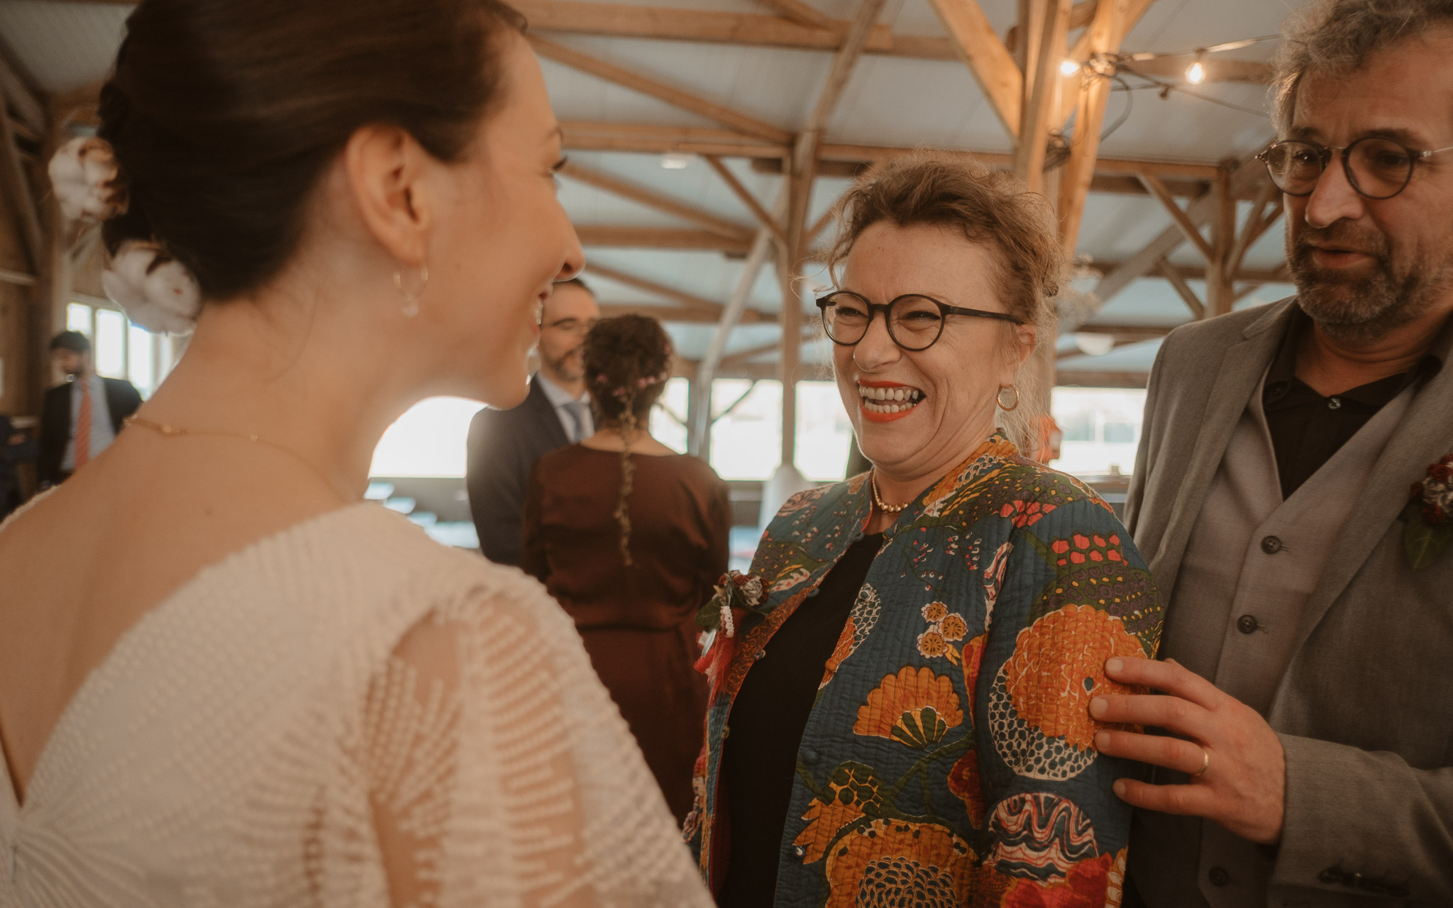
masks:
<path fill-rule="evenodd" d="M 0 769 L 6 908 L 711 905 L 570 619 L 373 504 L 202 571 Z"/>

